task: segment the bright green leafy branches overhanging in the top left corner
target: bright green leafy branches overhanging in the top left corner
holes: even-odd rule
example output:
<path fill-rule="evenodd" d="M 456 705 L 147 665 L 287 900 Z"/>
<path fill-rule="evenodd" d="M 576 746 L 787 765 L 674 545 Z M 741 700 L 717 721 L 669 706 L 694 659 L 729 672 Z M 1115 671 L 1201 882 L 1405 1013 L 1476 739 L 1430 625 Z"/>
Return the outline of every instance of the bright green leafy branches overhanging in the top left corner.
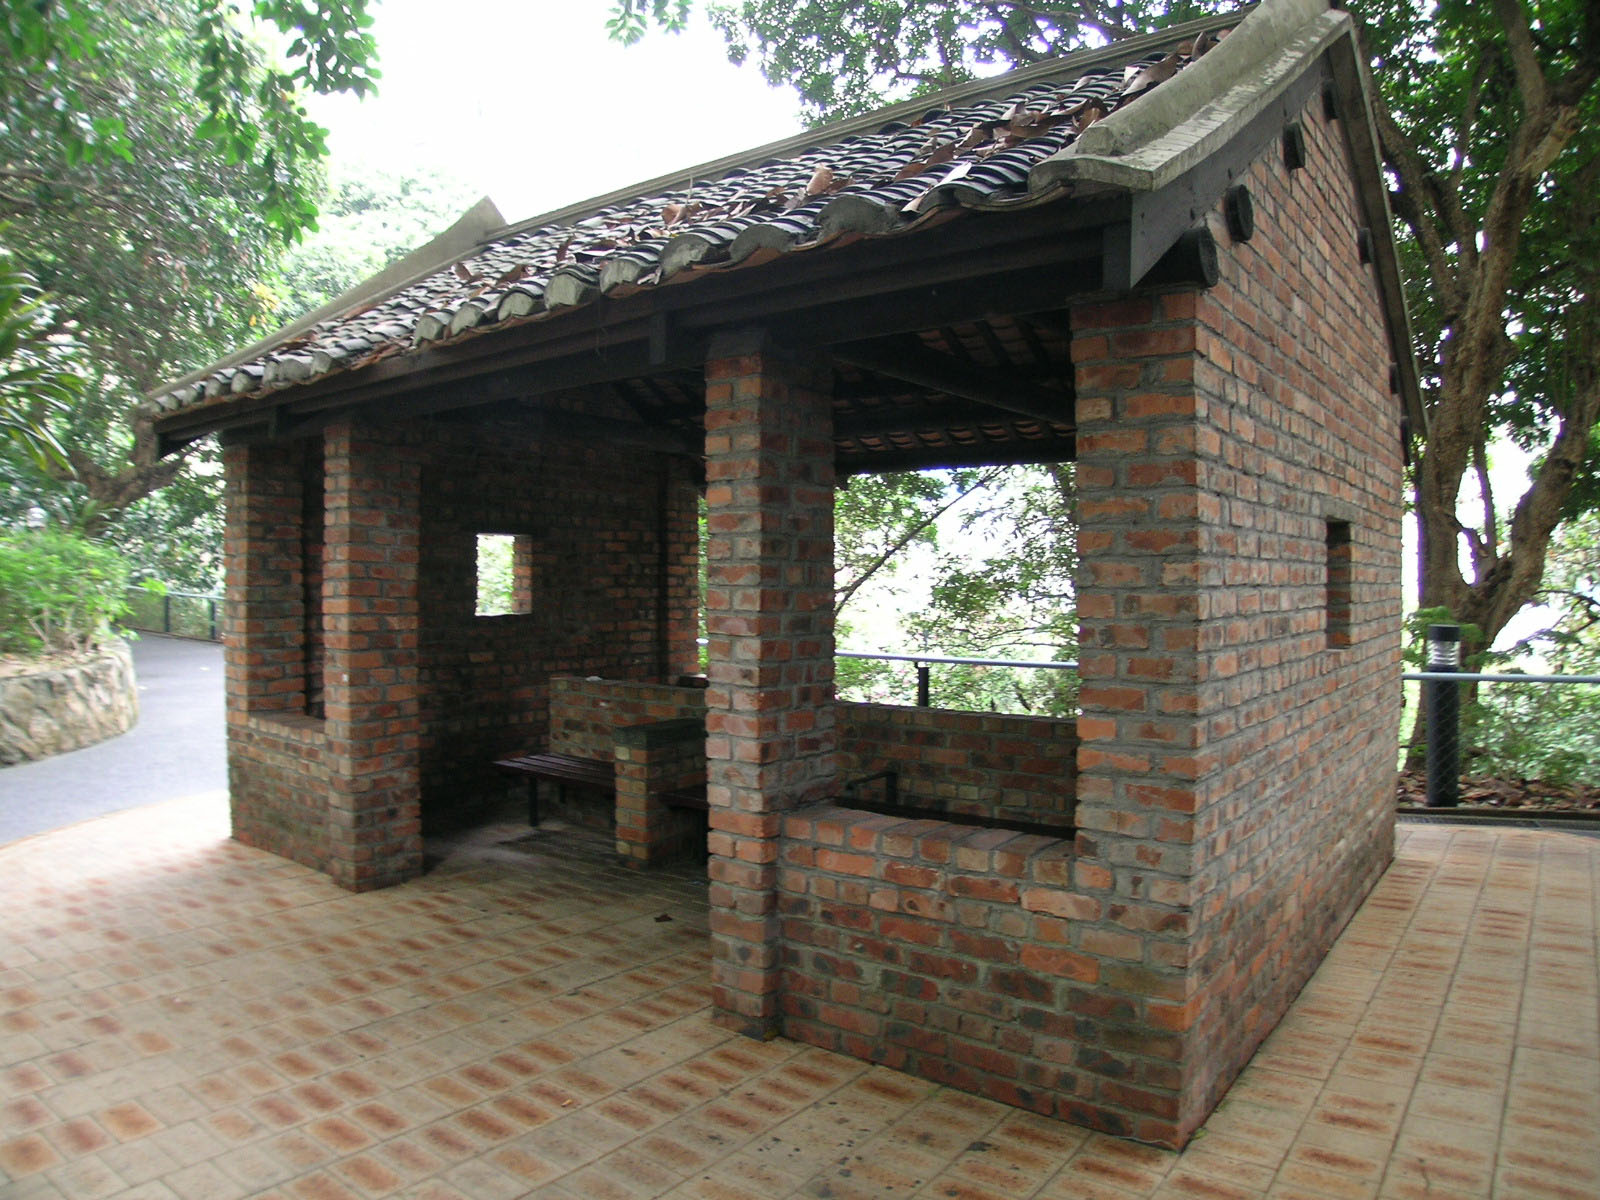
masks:
<path fill-rule="evenodd" d="M 285 40 L 280 61 L 259 48 L 253 29 L 274 27 Z M 250 11 L 229 0 L 179 6 L 106 0 L 6 5 L 0 16 L 5 90 L 0 112 L 16 128 L 29 123 L 54 147 L 43 170 L 8 171 L 13 182 L 46 186 L 62 171 L 120 160 L 138 162 L 139 90 L 102 70 L 130 42 L 186 30 L 182 70 L 162 80 L 194 98 L 198 120 L 178 150 L 198 142 L 200 157 L 248 181 L 266 226 L 293 240 L 315 227 L 315 176 L 326 131 L 301 107 L 302 91 L 371 90 L 376 45 L 366 29 L 366 0 L 256 0 Z M 138 85 L 138 80 L 133 80 Z M 123 104 L 130 110 L 123 110 Z M 8 163 L 10 166 L 10 163 Z M 94 203 L 114 206 L 115 194 Z"/>

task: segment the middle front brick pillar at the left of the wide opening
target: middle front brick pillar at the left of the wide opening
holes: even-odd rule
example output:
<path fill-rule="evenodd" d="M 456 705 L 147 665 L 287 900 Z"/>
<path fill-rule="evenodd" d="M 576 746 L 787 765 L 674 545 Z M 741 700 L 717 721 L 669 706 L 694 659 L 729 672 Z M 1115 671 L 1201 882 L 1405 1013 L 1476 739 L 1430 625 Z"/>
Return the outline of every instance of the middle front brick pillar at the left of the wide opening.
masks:
<path fill-rule="evenodd" d="M 834 786 L 834 440 L 826 368 L 760 334 L 706 363 L 706 696 L 717 1021 L 778 1029 L 781 814 Z"/>

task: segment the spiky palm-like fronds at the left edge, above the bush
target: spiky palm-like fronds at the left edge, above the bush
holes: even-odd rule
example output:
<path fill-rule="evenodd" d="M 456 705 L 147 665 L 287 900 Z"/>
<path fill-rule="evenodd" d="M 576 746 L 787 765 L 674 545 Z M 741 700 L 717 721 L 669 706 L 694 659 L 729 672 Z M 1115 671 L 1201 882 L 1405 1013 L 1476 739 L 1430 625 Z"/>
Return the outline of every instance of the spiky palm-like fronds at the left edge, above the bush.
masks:
<path fill-rule="evenodd" d="M 50 338 L 50 312 L 34 280 L 0 248 L 0 443 L 38 467 L 66 461 L 46 424 L 83 390 L 72 347 Z"/>

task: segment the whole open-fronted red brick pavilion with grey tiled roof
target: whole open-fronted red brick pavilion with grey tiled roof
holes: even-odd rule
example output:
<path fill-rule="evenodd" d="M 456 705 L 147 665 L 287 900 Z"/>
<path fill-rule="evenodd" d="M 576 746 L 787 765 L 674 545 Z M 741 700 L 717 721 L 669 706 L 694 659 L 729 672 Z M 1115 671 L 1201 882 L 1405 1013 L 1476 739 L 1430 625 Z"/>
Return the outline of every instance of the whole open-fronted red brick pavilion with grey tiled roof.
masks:
<path fill-rule="evenodd" d="M 384 888 L 496 758 L 613 758 L 621 854 L 709 846 L 718 1021 L 1181 1146 L 1392 853 L 1421 418 L 1368 86 L 1266 0 L 480 205 L 163 389 L 224 446 L 234 835 Z M 1059 461 L 1077 720 L 835 704 L 835 488 Z M 912 816 L 845 798 L 885 766 Z"/>

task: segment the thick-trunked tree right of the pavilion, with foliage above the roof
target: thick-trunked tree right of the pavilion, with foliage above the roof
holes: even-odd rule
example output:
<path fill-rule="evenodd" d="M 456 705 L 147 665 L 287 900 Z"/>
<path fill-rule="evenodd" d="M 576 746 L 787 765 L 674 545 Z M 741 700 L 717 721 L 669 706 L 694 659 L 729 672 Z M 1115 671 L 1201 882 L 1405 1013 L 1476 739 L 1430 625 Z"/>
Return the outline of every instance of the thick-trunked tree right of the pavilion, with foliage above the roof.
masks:
<path fill-rule="evenodd" d="M 742 0 L 709 11 L 734 61 L 754 54 L 813 120 L 830 120 L 1230 8 Z M 1493 640 L 1533 600 L 1560 522 L 1600 504 L 1600 6 L 1374 0 L 1358 16 L 1429 416 L 1411 430 L 1422 603 Z M 624 40 L 683 19 L 682 2 L 613 6 Z M 1510 504 L 1490 480 L 1501 437 L 1539 458 Z"/>

